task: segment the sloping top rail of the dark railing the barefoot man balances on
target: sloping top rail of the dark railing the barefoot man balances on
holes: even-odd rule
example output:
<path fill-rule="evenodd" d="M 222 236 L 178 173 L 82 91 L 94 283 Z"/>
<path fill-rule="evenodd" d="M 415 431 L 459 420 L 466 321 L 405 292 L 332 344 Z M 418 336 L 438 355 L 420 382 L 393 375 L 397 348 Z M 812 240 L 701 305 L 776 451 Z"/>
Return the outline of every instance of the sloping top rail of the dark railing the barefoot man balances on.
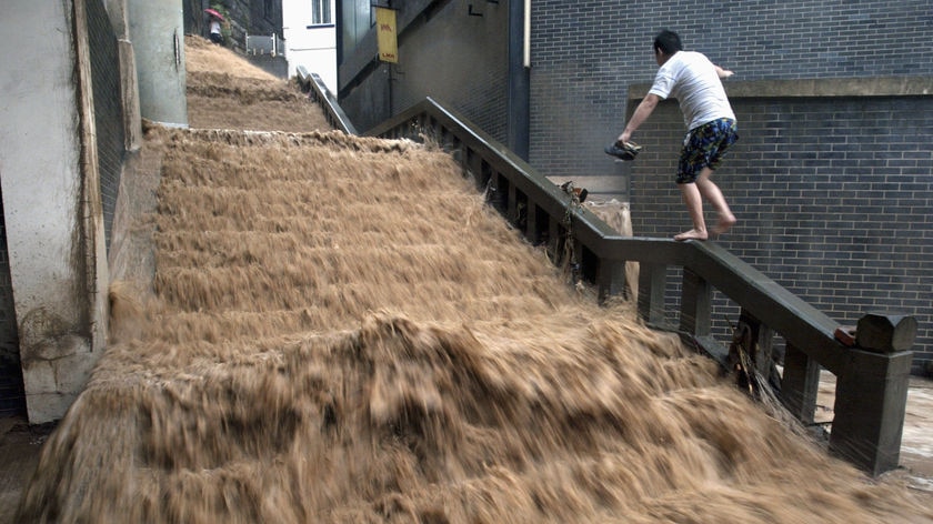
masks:
<path fill-rule="evenodd" d="M 411 119 L 428 115 L 452 132 L 483 161 L 506 174 L 535 204 L 552 216 L 565 213 L 570 198 L 528 162 L 512 153 L 454 111 L 431 98 L 413 104 L 367 131 L 381 135 Z M 791 293 L 778 282 L 712 241 L 623 236 L 585 208 L 574 213 L 574 235 L 596 256 L 612 262 L 680 265 L 690 269 L 739 303 L 789 344 L 806 351 L 833 373 L 843 370 L 846 347 L 835 340 L 839 323 Z"/>

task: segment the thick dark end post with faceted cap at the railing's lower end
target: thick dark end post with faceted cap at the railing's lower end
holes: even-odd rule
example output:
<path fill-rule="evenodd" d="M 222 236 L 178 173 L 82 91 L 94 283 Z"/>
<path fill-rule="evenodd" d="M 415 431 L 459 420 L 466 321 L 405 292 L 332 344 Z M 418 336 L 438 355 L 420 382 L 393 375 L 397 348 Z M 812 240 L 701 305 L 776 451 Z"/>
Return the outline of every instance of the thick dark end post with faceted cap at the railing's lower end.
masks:
<path fill-rule="evenodd" d="M 871 475 L 897 467 L 916 320 L 869 314 L 836 377 L 830 451 Z"/>

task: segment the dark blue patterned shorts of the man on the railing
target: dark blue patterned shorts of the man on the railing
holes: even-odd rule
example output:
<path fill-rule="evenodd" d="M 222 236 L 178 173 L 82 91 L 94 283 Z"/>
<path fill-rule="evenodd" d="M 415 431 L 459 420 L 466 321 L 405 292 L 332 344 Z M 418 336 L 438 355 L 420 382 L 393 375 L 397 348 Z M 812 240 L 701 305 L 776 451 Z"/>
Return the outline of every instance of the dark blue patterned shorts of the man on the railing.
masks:
<path fill-rule="evenodd" d="M 713 120 L 690 130 L 683 139 L 678 183 L 693 183 L 703 169 L 716 169 L 729 147 L 738 140 L 739 125 L 730 119 Z"/>

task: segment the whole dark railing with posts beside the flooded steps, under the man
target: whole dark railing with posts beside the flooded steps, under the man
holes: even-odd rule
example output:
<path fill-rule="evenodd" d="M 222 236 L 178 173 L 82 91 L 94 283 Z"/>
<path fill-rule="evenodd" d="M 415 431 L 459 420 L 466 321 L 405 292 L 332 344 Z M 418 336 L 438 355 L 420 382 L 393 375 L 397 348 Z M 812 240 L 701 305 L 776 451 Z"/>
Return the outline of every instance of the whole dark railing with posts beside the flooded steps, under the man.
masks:
<path fill-rule="evenodd" d="M 913 356 L 906 351 L 913 335 L 903 329 L 887 330 L 889 341 L 901 340 L 893 349 L 884 343 L 872 349 L 845 345 L 836 339 L 835 321 L 714 242 L 621 236 L 585 208 L 572 205 L 570 194 L 504 145 L 430 98 L 365 134 L 435 140 L 458 159 L 464 175 L 474 178 L 478 189 L 489 191 L 493 205 L 530 242 L 546 243 L 555 263 L 573 268 L 593 283 L 600 301 L 628 293 L 625 263 L 639 262 L 641 318 L 650 325 L 673 329 L 723 359 L 723 345 L 710 336 L 712 292 L 719 290 L 739 304 L 741 322 L 753 333 L 761 355 L 766 355 L 756 366 L 771 365 L 771 340 L 784 339 L 780 396 L 794 416 L 813 422 L 820 370 L 826 369 L 836 375 L 830 451 L 871 474 L 897 466 Z M 676 266 L 683 274 L 680 315 L 678 325 L 671 326 L 664 323 L 664 301 L 668 269 Z"/>

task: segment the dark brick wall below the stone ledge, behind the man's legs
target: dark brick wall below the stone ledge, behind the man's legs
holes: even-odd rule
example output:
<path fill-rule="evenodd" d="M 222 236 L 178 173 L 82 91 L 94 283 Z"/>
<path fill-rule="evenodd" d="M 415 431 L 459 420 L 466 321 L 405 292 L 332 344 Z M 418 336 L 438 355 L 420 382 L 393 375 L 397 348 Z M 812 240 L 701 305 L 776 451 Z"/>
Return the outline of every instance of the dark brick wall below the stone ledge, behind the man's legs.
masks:
<path fill-rule="evenodd" d="M 870 311 L 916 316 L 922 373 L 933 360 L 933 101 L 732 102 L 741 140 L 713 180 L 740 222 L 719 242 L 841 324 Z M 675 102 L 651 122 L 640 133 L 651 147 L 632 167 L 632 223 L 638 235 L 670 236 L 690 228 L 673 182 L 683 137 Z M 706 215 L 714 223 L 709 205 Z M 734 304 L 718 304 L 715 321 L 738 318 Z"/>

